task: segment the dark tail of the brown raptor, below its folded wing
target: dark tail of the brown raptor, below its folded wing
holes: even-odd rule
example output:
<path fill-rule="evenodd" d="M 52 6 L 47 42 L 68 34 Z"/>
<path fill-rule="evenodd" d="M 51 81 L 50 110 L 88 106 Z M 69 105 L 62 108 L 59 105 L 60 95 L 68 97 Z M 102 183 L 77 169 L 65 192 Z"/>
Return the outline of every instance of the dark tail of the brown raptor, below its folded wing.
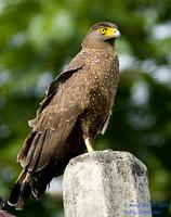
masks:
<path fill-rule="evenodd" d="M 15 206 L 16 209 L 23 209 L 31 192 L 37 200 L 41 199 L 47 186 L 54 177 L 54 163 L 37 173 L 29 173 L 24 169 L 12 189 L 8 201 L 9 205 Z"/>

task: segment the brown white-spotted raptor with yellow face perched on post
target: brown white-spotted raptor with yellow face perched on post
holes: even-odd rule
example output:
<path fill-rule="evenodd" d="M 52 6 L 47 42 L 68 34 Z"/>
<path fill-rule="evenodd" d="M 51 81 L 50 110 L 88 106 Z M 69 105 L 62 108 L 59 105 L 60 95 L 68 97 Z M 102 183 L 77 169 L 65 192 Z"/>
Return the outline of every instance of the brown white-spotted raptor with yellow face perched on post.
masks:
<path fill-rule="evenodd" d="M 95 136 L 107 128 L 118 87 L 115 40 L 119 36 L 113 23 L 93 25 L 81 51 L 50 84 L 17 155 L 23 171 L 11 192 L 10 205 L 22 209 L 30 193 L 40 199 L 70 158 L 93 151 Z"/>

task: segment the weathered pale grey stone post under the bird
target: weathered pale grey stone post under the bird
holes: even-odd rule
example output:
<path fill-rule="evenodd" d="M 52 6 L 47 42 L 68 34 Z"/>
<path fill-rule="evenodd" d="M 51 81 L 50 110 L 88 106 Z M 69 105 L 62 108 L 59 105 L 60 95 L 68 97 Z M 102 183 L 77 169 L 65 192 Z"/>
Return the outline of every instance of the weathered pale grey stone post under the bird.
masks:
<path fill-rule="evenodd" d="M 65 217 L 152 217 L 146 166 L 127 152 L 82 154 L 63 180 Z"/>

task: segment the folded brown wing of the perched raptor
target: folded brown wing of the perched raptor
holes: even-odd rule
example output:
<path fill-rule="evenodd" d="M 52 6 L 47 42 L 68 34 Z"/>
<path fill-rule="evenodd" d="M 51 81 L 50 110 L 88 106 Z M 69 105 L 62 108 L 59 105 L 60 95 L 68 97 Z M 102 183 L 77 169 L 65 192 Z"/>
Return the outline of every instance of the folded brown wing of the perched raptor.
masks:
<path fill-rule="evenodd" d="M 82 91 L 70 89 L 74 82 L 76 86 L 84 86 L 77 82 L 80 74 L 77 73 L 78 77 L 75 76 L 76 72 L 81 69 L 82 65 L 77 69 L 65 72 L 50 85 L 37 118 L 29 123 L 32 130 L 17 155 L 17 161 L 29 171 L 41 170 L 55 157 L 65 154 L 63 153 L 65 141 L 83 111 L 82 105 L 80 106 L 80 99 L 84 94 L 83 88 Z M 69 82 L 69 79 L 73 80 Z M 69 84 L 66 85 L 66 81 Z M 64 92 L 63 86 L 65 86 Z"/>

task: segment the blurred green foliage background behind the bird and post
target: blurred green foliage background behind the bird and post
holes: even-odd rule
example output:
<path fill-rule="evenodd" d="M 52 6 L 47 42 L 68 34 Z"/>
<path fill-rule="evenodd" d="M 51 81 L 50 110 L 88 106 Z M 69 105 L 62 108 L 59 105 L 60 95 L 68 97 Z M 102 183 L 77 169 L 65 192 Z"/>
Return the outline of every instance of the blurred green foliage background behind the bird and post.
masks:
<path fill-rule="evenodd" d="M 80 50 L 90 26 L 119 26 L 120 84 L 96 150 L 129 151 L 149 171 L 152 201 L 171 216 L 171 3 L 169 0 L 0 0 L 0 195 L 8 200 L 15 163 L 48 84 Z M 16 216 L 63 216 L 62 197 L 29 200 Z"/>

